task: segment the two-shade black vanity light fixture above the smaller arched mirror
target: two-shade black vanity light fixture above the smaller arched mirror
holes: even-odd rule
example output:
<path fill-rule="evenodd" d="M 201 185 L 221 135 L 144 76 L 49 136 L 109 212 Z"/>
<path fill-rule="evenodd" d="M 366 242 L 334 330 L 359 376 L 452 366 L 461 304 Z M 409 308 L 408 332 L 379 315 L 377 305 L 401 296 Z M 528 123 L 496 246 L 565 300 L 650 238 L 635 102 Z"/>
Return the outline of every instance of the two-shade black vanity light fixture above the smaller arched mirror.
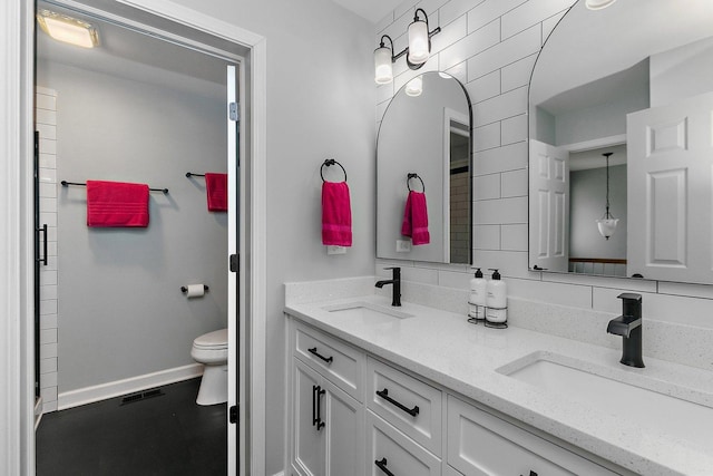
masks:
<path fill-rule="evenodd" d="M 419 11 L 423 14 L 423 20 L 419 17 Z M 431 55 L 431 37 L 440 33 L 441 28 L 437 27 L 429 31 L 428 16 L 421 8 L 417 8 L 413 14 L 413 22 L 409 25 L 409 46 L 398 55 L 393 54 L 393 40 L 388 35 L 381 37 L 379 48 L 374 50 L 374 80 L 378 85 L 385 85 L 393 80 L 392 64 L 406 55 L 406 62 L 410 69 L 419 69 Z M 389 40 L 389 46 L 384 43 Z"/>

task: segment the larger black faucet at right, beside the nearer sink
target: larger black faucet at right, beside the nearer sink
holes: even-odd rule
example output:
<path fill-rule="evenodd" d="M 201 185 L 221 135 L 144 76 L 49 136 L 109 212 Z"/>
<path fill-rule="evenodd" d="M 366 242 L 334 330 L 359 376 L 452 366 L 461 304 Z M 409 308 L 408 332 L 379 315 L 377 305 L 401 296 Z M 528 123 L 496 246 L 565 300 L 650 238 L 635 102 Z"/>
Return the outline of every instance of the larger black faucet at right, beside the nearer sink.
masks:
<path fill-rule="evenodd" d="M 625 292 L 617 297 L 622 300 L 623 312 L 612 319 L 606 328 L 608 333 L 622 336 L 622 360 L 625 366 L 644 368 L 642 357 L 642 295 Z"/>

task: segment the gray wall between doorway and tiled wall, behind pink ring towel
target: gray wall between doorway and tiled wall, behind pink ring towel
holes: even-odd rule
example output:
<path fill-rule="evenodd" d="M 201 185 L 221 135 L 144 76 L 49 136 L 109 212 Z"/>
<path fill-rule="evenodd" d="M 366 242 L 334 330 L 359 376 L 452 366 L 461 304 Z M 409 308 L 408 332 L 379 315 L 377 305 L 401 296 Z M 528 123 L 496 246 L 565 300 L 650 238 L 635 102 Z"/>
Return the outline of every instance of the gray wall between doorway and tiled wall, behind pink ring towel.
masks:
<path fill-rule="evenodd" d="M 283 469 L 284 282 L 373 274 L 372 25 L 329 0 L 176 0 L 262 35 L 267 50 L 266 474 Z M 353 245 L 328 255 L 320 166 L 349 174 Z M 334 168 L 334 167 L 331 167 Z M 340 171 L 341 172 L 341 171 Z"/>

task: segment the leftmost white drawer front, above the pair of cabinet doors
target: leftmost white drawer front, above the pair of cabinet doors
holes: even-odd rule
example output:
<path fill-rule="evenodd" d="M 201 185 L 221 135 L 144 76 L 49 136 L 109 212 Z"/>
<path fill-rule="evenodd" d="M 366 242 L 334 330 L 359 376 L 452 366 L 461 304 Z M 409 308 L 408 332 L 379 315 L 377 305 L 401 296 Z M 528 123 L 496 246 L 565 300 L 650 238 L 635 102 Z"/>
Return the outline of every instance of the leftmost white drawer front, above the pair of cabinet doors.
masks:
<path fill-rule="evenodd" d="M 350 397 L 363 401 L 363 352 L 294 321 L 294 353 Z"/>

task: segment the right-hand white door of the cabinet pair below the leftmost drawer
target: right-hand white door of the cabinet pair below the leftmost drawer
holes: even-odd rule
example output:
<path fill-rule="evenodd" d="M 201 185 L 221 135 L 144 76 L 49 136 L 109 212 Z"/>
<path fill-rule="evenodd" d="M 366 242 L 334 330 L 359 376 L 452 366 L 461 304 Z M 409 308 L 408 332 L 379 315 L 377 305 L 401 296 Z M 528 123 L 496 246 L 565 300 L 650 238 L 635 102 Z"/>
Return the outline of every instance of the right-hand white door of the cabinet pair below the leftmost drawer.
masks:
<path fill-rule="evenodd" d="M 362 476 L 364 447 L 363 405 L 323 380 L 326 394 L 322 400 L 322 429 L 326 439 L 326 474 Z"/>

